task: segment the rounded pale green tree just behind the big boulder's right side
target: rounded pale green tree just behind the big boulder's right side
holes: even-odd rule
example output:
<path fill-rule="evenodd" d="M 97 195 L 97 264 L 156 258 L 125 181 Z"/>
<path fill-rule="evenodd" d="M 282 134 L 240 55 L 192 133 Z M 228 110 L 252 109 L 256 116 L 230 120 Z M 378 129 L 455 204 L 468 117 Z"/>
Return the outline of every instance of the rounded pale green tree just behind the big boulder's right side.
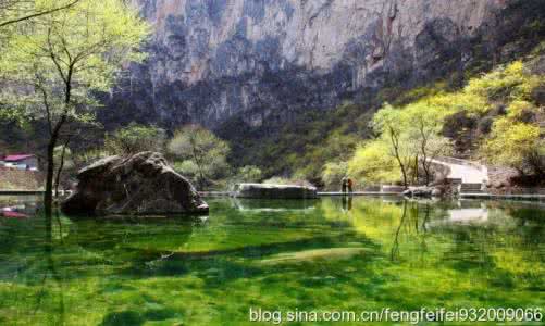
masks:
<path fill-rule="evenodd" d="M 200 189 L 230 174 L 227 142 L 201 126 L 187 125 L 181 128 L 168 148 L 179 161 L 174 167 L 188 177 L 194 176 Z"/>

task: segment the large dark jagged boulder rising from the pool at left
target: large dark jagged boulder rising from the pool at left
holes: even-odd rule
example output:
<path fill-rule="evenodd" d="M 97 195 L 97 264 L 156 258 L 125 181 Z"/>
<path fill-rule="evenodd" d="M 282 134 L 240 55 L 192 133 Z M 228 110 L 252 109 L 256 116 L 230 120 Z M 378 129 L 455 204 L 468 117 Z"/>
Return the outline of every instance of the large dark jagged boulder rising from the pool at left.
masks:
<path fill-rule="evenodd" d="M 159 153 L 106 158 L 77 178 L 77 189 L 62 203 L 66 214 L 208 213 L 193 185 Z"/>

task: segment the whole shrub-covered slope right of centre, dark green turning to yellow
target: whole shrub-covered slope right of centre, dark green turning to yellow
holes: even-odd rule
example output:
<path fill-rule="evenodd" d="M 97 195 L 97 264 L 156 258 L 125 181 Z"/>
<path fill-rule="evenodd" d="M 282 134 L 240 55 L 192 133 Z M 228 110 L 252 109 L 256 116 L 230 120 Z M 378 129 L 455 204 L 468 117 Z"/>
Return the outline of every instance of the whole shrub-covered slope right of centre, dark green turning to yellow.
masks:
<path fill-rule="evenodd" d="M 524 179 L 543 180 L 543 58 L 537 47 L 523 60 L 468 77 L 462 88 L 438 82 L 389 97 L 392 104 L 383 102 L 374 114 L 366 104 L 351 103 L 304 113 L 280 135 L 263 137 L 259 147 L 236 139 L 235 150 L 240 140 L 265 176 L 308 179 L 333 190 L 347 174 L 360 187 L 429 184 L 434 178 L 430 160 L 441 155 L 511 167 Z M 231 162 L 245 160 L 238 155 Z"/>

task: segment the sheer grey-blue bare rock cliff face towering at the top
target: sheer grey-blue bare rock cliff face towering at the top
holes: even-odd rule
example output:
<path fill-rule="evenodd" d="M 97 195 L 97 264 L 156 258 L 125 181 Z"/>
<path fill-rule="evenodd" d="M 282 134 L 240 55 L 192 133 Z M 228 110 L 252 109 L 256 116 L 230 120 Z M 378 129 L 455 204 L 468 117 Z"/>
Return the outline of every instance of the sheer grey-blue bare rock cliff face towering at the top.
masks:
<path fill-rule="evenodd" d="M 156 28 L 111 106 L 168 127 L 251 126 L 466 64 L 505 0 L 132 0 Z M 115 114 L 123 111 L 113 111 Z M 138 115 L 140 114 L 140 115 Z M 133 114 L 132 114 L 133 115 Z M 110 120 L 114 120 L 110 117 Z"/>

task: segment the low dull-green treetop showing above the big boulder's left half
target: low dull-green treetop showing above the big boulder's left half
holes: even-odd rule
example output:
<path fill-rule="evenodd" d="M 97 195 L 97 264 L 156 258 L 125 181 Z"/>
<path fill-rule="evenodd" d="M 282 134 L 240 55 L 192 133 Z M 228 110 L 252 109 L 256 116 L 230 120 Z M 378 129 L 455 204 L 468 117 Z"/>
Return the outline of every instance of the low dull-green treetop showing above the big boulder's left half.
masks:
<path fill-rule="evenodd" d="M 162 152 L 166 133 L 156 126 L 132 123 L 112 134 L 107 134 L 104 149 L 110 154 L 129 155 L 144 151 Z"/>

